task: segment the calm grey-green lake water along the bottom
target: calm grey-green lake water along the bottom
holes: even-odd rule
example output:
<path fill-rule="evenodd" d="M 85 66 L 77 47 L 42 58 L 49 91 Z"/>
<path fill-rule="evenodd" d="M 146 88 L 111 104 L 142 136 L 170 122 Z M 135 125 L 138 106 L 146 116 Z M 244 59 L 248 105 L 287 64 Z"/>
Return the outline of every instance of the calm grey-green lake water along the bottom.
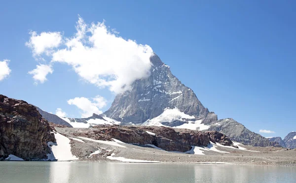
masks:
<path fill-rule="evenodd" d="M 295 167 L 0 162 L 0 183 L 296 183 Z"/>

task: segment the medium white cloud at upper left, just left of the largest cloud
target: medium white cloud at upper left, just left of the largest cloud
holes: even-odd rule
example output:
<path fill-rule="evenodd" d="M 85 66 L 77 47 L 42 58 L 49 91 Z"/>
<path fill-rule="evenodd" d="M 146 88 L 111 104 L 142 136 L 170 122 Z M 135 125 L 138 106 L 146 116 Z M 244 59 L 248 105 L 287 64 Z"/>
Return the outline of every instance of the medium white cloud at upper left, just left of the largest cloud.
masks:
<path fill-rule="evenodd" d="M 36 31 L 30 32 L 31 37 L 26 46 L 32 49 L 33 55 L 38 56 L 43 53 L 50 55 L 53 48 L 62 43 L 61 32 L 41 32 L 39 35 Z"/>

